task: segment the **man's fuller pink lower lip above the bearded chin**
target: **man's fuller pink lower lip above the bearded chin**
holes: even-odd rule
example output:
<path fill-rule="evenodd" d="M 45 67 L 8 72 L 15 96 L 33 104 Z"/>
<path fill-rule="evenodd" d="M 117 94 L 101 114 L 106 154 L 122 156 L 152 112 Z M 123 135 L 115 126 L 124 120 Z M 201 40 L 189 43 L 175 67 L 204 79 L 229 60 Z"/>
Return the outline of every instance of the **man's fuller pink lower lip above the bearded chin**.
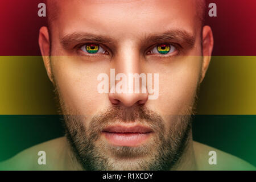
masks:
<path fill-rule="evenodd" d="M 147 141 L 151 133 L 109 133 L 102 132 L 109 143 L 115 146 L 136 147 Z"/>

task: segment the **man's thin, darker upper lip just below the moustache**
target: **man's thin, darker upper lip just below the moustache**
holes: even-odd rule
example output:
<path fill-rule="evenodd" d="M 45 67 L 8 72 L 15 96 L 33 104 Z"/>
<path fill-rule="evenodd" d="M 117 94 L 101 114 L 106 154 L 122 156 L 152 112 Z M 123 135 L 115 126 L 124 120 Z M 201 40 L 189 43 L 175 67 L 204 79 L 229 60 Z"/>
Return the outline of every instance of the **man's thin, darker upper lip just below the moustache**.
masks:
<path fill-rule="evenodd" d="M 151 133 L 152 130 L 150 127 L 135 125 L 135 126 L 127 126 L 127 125 L 112 125 L 106 127 L 103 131 L 109 133 Z"/>

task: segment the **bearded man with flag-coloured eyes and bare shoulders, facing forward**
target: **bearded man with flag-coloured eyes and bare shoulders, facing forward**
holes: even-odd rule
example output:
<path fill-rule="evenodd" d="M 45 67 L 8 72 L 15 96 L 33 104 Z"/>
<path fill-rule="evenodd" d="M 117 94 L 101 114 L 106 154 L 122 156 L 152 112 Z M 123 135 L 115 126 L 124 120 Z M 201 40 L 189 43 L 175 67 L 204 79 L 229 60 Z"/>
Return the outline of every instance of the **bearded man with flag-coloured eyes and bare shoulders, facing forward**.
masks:
<path fill-rule="evenodd" d="M 2 166 L 253 169 L 192 140 L 190 116 L 213 49 L 212 30 L 203 26 L 204 7 L 202 0 L 48 1 L 49 24 L 40 29 L 39 46 L 66 135 Z M 129 75 L 139 75 L 139 85 Z M 38 164 L 41 150 L 46 165 Z M 217 154 L 216 165 L 209 164 L 210 151 Z"/>

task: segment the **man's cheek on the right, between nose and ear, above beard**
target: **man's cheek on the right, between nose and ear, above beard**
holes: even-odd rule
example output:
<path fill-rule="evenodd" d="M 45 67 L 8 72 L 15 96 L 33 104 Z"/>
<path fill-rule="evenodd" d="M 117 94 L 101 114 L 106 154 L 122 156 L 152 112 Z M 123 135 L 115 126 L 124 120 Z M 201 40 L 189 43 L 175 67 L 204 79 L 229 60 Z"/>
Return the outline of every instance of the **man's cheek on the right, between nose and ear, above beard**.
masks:
<path fill-rule="evenodd" d="M 150 100 L 154 110 L 166 118 L 185 114 L 193 106 L 200 69 L 199 56 L 180 57 L 170 65 L 159 65 L 159 98 Z"/>

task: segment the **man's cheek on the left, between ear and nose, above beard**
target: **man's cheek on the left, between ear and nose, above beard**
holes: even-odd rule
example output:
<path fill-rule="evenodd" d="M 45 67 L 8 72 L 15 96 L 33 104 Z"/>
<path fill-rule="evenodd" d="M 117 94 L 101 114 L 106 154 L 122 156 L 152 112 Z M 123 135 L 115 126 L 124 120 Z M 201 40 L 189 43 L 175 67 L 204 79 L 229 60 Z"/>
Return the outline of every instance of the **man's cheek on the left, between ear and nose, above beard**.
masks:
<path fill-rule="evenodd" d="M 59 57 L 53 60 L 53 73 L 61 99 L 71 114 L 83 114 L 87 118 L 104 107 L 106 94 L 97 92 L 97 76 L 108 73 L 103 63 L 85 63 L 76 57 Z M 106 97 L 106 98 L 105 98 Z"/>

